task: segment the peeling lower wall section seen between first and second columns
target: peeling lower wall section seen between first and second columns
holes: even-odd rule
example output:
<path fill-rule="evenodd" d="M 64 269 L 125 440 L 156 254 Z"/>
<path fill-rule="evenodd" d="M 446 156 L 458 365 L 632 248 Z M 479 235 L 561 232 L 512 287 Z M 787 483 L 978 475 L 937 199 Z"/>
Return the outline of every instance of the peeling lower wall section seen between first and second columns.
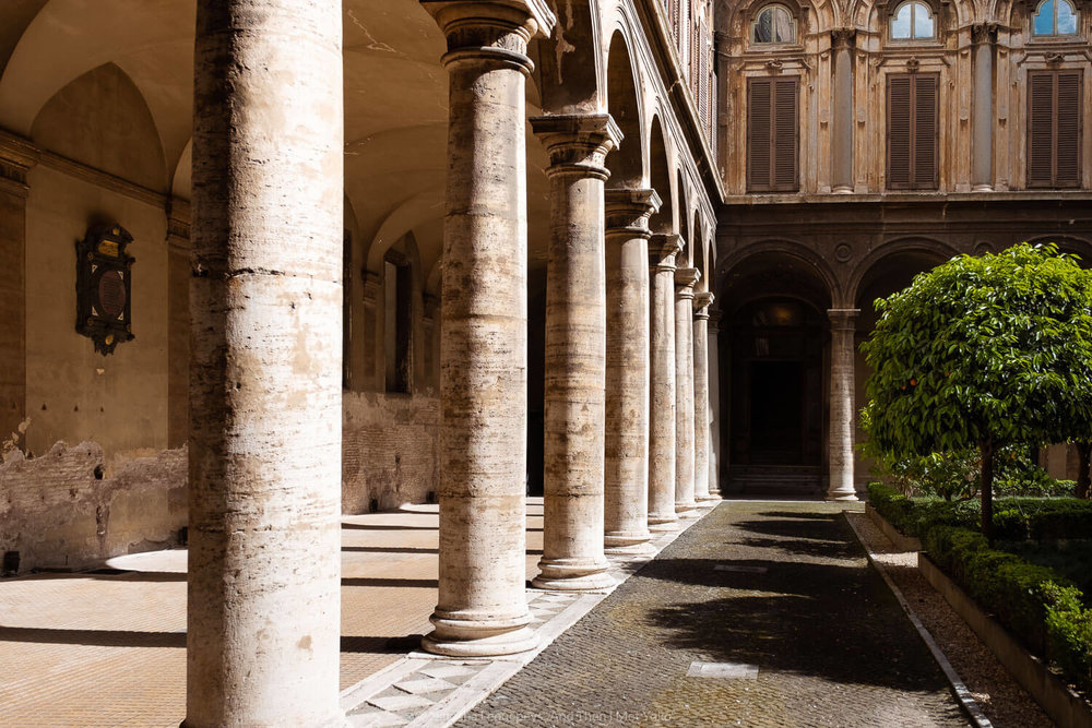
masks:
<path fill-rule="evenodd" d="M 426 502 L 439 485 L 439 398 L 345 392 L 342 403 L 342 512 Z"/>

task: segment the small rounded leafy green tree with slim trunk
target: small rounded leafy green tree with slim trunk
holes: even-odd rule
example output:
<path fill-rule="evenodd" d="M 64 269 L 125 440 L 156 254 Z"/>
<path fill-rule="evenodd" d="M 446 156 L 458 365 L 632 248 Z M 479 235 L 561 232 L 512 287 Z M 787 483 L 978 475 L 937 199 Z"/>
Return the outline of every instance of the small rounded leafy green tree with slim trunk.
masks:
<path fill-rule="evenodd" d="M 1092 439 L 1092 274 L 1057 248 L 963 255 L 876 301 L 862 345 L 874 452 L 980 453 L 982 529 L 1006 445 Z"/>

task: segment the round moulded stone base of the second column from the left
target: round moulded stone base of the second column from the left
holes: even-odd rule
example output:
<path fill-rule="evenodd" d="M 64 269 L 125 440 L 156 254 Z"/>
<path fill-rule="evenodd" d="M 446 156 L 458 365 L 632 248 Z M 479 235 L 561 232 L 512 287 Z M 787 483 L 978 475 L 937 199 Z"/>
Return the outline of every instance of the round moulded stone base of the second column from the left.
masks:
<path fill-rule="evenodd" d="M 448 657 L 497 657 L 527 652 L 538 646 L 527 624 L 531 613 L 488 620 L 458 619 L 436 611 L 428 621 L 436 628 L 420 640 L 422 649 Z"/>

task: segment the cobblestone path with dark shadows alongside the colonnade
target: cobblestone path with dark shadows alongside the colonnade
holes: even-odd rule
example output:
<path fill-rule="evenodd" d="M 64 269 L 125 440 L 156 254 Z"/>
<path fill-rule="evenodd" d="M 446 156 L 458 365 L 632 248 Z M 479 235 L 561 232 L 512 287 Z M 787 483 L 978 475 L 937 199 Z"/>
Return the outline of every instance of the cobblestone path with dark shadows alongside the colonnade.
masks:
<path fill-rule="evenodd" d="M 722 503 L 458 725 L 966 725 L 840 511 Z"/>

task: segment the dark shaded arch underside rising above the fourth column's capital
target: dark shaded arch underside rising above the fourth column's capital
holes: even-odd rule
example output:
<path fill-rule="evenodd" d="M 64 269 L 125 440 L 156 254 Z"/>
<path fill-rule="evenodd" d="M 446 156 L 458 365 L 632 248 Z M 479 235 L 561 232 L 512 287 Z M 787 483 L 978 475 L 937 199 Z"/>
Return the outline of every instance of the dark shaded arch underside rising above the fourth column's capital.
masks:
<path fill-rule="evenodd" d="M 620 31 L 610 37 L 607 55 L 607 110 L 622 133 L 621 145 L 607 155 L 608 188 L 637 189 L 643 182 L 644 141 L 637 67 Z"/>

